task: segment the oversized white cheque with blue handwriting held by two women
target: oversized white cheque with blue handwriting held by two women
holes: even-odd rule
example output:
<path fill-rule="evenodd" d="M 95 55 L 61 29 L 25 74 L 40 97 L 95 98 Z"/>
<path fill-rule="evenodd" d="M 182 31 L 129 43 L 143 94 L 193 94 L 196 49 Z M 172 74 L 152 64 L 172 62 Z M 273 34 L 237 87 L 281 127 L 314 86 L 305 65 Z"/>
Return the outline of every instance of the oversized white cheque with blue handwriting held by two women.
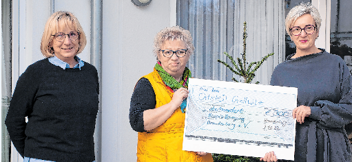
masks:
<path fill-rule="evenodd" d="M 189 79 L 183 150 L 293 160 L 297 89 Z"/>

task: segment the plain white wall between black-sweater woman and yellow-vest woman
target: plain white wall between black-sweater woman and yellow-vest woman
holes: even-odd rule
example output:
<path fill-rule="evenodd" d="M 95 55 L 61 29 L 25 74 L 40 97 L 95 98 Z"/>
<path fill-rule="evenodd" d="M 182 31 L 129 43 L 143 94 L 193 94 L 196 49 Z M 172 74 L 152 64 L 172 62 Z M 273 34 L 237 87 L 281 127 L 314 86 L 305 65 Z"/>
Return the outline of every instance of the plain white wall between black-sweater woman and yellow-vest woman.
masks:
<path fill-rule="evenodd" d="M 139 78 L 152 72 L 154 36 L 170 24 L 169 1 L 145 7 L 103 1 L 102 161 L 136 161 L 137 133 L 128 119 Z"/>

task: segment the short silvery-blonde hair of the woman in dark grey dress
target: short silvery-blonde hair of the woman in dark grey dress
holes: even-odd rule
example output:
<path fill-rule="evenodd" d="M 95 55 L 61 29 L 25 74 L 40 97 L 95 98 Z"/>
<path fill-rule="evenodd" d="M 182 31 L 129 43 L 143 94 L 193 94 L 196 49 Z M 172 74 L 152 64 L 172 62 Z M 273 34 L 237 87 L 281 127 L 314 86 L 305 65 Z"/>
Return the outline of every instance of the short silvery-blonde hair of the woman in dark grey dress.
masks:
<path fill-rule="evenodd" d="M 319 31 L 320 26 L 322 25 L 322 19 L 320 18 L 320 14 L 318 12 L 318 9 L 315 8 L 311 3 L 300 3 L 300 5 L 297 5 L 296 7 L 292 8 L 289 11 L 289 14 L 286 16 L 286 20 L 284 22 L 284 25 L 286 27 L 286 32 L 289 34 L 289 36 L 292 36 L 290 32 L 290 27 L 292 24 L 296 22 L 298 17 L 302 16 L 303 14 L 311 14 L 315 21 L 315 27 L 317 31 Z"/>

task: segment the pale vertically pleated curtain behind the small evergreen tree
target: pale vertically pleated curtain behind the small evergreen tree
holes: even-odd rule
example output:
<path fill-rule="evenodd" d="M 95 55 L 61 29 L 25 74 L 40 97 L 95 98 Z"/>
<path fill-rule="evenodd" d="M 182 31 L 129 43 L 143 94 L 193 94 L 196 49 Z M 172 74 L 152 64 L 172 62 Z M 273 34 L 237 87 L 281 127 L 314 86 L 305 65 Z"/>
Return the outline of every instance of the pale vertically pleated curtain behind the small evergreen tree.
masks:
<path fill-rule="evenodd" d="M 242 58 L 243 23 L 247 22 L 247 61 L 275 53 L 256 71 L 252 82 L 269 84 L 273 69 L 284 60 L 284 1 L 177 0 L 177 22 L 191 32 L 194 55 L 188 66 L 194 78 L 243 81 L 217 60 Z"/>

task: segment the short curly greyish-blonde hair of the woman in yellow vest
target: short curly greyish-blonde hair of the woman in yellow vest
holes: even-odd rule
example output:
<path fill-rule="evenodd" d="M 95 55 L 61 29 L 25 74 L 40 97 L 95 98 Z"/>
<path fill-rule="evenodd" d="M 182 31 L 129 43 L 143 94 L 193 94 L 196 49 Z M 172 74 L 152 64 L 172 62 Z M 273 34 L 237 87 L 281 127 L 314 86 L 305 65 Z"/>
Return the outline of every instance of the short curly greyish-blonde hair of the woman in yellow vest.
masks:
<path fill-rule="evenodd" d="M 188 30 L 179 26 L 165 27 L 154 38 L 153 53 L 158 59 L 158 51 L 166 40 L 181 40 L 185 43 L 189 56 L 194 52 L 193 38 Z"/>

